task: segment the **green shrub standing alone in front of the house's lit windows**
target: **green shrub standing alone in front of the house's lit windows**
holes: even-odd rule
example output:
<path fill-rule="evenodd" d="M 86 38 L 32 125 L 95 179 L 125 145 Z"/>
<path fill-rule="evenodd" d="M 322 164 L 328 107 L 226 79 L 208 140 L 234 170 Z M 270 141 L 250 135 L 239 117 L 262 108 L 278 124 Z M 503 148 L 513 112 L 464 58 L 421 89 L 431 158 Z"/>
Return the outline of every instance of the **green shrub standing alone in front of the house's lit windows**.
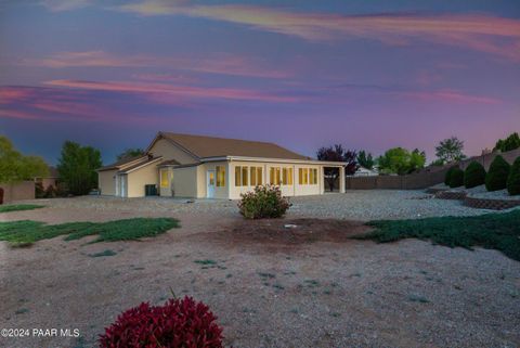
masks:
<path fill-rule="evenodd" d="M 255 191 L 240 195 L 238 203 L 242 216 L 246 219 L 281 218 L 290 207 L 289 199 L 282 196 L 275 185 L 256 186 Z"/>

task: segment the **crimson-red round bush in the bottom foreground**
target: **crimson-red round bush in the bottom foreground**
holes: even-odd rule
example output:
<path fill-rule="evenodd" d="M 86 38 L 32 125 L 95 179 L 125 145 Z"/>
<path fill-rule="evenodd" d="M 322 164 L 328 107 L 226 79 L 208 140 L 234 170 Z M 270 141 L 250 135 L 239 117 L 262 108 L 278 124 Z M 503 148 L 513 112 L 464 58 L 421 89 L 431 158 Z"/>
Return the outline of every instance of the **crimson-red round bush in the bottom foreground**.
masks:
<path fill-rule="evenodd" d="M 208 306 L 191 297 L 143 302 L 122 312 L 100 336 L 101 348 L 222 348 L 222 328 Z"/>

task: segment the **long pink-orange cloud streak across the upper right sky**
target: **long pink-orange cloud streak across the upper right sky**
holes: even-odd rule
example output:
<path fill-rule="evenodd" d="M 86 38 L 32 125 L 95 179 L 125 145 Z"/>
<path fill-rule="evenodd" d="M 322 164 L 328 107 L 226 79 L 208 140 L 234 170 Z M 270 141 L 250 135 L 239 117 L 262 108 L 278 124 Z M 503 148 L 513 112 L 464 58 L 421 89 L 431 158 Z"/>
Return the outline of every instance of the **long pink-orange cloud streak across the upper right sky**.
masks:
<path fill-rule="evenodd" d="M 117 8 L 140 15 L 187 15 L 247 25 L 311 41 L 365 38 L 391 46 L 427 41 L 520 62 L 520 21 L 489 15 L 337 15 L 253 5 L 185 5 L 144 0 Z M 506 42 L 504 42 L 506 40 Z"/>

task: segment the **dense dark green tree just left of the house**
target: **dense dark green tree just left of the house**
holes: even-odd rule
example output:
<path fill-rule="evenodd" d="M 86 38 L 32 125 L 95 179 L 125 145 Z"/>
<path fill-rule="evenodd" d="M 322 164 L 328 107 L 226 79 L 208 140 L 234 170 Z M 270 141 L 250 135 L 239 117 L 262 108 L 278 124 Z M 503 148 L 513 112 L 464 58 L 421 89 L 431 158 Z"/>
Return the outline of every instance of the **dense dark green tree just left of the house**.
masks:
<path fill-rule="evenodd" d="M 98 186 L 95 169 L 102 166 L 101 153 L 91 146 L 66 141 L 62 147 L 57 171 L 72 194 L 88 194 Z"/>

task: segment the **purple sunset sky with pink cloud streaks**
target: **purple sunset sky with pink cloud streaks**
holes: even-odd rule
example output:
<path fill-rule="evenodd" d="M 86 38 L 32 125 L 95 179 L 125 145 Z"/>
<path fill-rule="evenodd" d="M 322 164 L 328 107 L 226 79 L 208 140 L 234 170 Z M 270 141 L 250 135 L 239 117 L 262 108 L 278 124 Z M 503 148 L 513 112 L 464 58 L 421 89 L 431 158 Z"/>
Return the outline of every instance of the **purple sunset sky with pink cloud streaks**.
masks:
<path fill-rule="evenodd" d="M 520 131 L 511 1 L 0 1 L 0 134 L 54 164 L 159 131 L 379 155 Z"/>

